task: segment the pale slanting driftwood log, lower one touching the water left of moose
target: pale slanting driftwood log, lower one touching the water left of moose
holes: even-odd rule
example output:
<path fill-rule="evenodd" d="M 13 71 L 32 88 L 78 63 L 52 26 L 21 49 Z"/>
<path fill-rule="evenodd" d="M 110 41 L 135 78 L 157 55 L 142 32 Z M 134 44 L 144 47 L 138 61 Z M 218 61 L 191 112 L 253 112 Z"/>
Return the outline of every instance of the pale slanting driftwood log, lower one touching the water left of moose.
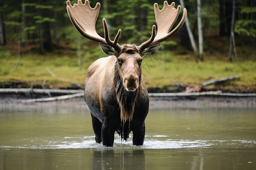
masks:
<path fill-rule="evenodd" d="M 33 103 L 33 102 L 43 102 L 43 101 L 67 100 L 67 99 L 72 99 L 72 98 L 81 97 L 81 96 L 84 96 L 84 93 L 57 96 L 57 97 L 39 98 L 39 99 L 27 99 L 27 100 L 21 100 L 20 103 Z"/>

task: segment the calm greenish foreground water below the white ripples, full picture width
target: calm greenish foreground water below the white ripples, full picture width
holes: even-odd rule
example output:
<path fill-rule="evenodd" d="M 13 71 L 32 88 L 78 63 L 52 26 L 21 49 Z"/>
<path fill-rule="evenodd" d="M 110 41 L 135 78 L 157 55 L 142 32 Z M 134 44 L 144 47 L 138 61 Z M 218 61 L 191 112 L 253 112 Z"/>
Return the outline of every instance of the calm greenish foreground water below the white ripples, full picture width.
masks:
<path fill-rule="evenodd" d="M 255 148 L 244 149 L 10 149 L 0 169 L 256 169 Z"/>

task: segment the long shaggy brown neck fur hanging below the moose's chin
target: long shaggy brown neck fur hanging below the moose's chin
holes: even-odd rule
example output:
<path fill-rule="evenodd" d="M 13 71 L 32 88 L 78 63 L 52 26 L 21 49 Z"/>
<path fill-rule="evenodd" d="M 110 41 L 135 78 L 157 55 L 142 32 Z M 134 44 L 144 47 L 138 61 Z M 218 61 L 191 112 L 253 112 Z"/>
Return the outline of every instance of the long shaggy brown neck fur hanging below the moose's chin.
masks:
<path fill-rule="evenodd" d="M 141 84 L 141 74 L 139 76 L 139 84 Z M 134 92 L 129 92 L 123 86 L 123 82 L 118 73 L 118 62 L 115 63 L 115 78 L 114 78 L 115 92 L 117 94 L 117 102 L 121 110 L 121 121 L 125 123 L 133 119 L 135 103 L 138 98 L 140 87 Z"/>

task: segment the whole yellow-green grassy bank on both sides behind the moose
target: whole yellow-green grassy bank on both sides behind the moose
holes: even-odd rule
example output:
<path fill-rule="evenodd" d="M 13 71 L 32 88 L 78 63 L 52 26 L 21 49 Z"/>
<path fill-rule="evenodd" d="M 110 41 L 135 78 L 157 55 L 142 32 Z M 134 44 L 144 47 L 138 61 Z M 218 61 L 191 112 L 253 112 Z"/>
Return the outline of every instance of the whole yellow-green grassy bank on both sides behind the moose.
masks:
<path fill-rule="evenodd" d="M 15 69 L 18 55 L 8 50 L 2 50 L 0 63 L 1 88 L 15 87 L 46 87 L 46 88 L 77 88 L 76 85 L 63 82 L 64 78 L 84 83 L 86 69 L 100 57 L 105 57 L 100 48 L 93 53 L 83 52 L 81 67 L 75 50 L 59 49 L 44 55 L 27 52 L 20 56 L 20 62 Z M 100 57 L 98 57 L 100 56 Z M 48 69 L 47 69 L 48 68 Z M 52 76 L 52 72 L 55 76 Z M 195 62 L 191 54 L 177 54 L 176 52 L 161 50 L 154 57 L 145 57 L 142 72 L 150 91 L 175 91 L 176 87 L 170 83 L 180 83 L 182 87 L 200 86 L 210 79 L 226 76 L 241 75 L 238 80 L 207 86 L 207 90 L 225 90 L 234 92 L 255 92 L 256 90 L 256 62 L 253 58 L 240 59 L 230 63 L 220 54 L 205 54 L 204 62 Z"/>

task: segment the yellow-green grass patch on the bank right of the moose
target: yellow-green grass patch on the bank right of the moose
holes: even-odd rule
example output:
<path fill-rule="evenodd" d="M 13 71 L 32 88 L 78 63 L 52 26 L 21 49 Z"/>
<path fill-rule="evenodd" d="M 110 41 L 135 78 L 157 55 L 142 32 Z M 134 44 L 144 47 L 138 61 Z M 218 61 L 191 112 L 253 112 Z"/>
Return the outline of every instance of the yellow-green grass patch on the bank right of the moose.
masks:
<path fill-rule="evenodd" d="M 238 80 L 209 88 L 233 89 L 242 88 L 247 91 L 256 89 L 256 62 L 245 60 L 239 63 L 225 61 L 216 57 L 205 56 L 204 62 L 195 62 L 195 58 L 189 55 L 175 56 L 173 53 L 165 54 L 165 62 L 160 54 L 155 56 L 159 63 L 144 69 L 147 87 L 163 88 L 170 83 L 183 83 L 190 86 L 198 86 L 213 79 L 227 76 L 241 75 Z M 151 62 L 151 59 L 145 58 Z M 143 62 L 144 62 L 143 61 Z M 147 61 L 146 61 L 147 62 Z M 146 71 L 145 71 L 146 70 Z"/>

